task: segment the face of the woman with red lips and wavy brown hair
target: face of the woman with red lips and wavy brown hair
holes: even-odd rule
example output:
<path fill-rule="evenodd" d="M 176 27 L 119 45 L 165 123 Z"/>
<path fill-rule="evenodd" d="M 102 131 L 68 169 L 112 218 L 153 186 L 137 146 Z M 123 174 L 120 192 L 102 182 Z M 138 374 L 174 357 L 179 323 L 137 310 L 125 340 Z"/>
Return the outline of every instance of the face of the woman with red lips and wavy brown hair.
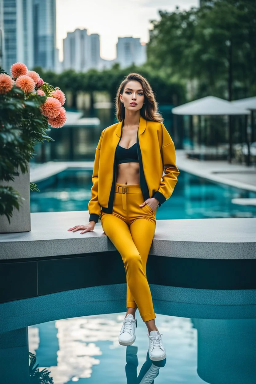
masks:
<path fill-rule="evenodd" d="M 145 96 L 142 85 L 139 81 L 128 81 L 128 83 L 124 86 L 123 94 L 120 94 L 120 99 L 121 102 L 124 103 L 125 108 L 130 111 L 138 111 L 142 108 Z"/>

